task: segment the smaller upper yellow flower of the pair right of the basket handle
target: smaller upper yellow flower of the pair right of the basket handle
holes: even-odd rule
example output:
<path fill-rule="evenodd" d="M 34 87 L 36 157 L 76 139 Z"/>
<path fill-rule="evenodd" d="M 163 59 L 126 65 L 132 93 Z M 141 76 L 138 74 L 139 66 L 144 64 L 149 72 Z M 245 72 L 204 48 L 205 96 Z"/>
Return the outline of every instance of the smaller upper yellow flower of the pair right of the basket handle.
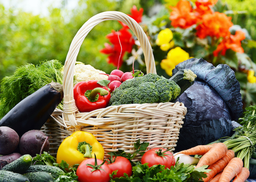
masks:
<path fill-rule="evenodd" d="M 157 40 L 155 41 L 155 43 L 158 46 L 160 46 L 161 50 L 167 51 L 173 47 L 172 45 L 174 45 L 174 42 L 171 41 L 172 39 L 173 39 L 173 32 L 169 28 L 166 28 L 161 30 L 158 33 Z"/>

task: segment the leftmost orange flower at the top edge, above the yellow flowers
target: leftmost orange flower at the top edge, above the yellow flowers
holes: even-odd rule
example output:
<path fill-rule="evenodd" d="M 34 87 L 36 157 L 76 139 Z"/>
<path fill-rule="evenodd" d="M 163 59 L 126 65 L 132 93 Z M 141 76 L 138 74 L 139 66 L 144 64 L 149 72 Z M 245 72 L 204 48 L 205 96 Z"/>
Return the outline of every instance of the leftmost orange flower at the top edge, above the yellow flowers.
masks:
<path fill-rule="evenodd" d="M 188 28 L 196 23 L 196 16 L 193 12 L 193 8 L 189 1 L 180 0 L 177 5 L 170 7 L 173 11 L 170 13 L 170 20 L 172 21 L 172 26 L 177 28 Z"/>

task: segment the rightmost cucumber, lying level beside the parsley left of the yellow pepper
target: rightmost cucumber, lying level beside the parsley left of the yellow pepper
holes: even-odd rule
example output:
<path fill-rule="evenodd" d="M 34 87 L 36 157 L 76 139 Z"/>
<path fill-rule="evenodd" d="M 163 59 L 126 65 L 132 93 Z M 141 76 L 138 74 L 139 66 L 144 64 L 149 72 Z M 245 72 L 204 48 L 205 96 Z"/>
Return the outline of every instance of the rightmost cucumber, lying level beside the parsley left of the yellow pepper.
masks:
<path fill-rule="evenodd" d="M 26 173 L 29 172 L 38 172 L 44 171 L 52 174 L 53 178 L 57 178 L 59 175 L 64 175 L 65 172 L 56 166 L 48 166 L 48 165 L 31 165 L 29 169 L 27 169 Z"/>

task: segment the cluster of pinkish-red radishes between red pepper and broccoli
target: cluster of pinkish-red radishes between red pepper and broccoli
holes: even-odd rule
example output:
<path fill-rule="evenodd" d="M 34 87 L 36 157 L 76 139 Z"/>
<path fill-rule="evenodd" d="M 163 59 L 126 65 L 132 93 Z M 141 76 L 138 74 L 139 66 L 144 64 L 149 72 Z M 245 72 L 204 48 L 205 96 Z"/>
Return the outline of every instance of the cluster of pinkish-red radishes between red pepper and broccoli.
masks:
<path fill-rule="evenodd" d="M 108 76 L 108 80 L 110 81 L 110 83 L 108 84 L 110 92 L 113 92 L 125 80 L 132 78 L 133 75 L 131 72 L 123 72 L 118 69 L 111 71 L 110 75 Z"/>

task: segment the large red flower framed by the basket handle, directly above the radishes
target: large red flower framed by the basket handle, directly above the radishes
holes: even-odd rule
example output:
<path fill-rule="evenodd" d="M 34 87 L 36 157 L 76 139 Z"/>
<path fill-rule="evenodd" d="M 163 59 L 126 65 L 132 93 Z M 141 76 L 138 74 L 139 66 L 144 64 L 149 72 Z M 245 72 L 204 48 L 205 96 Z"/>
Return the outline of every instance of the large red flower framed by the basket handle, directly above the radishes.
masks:
<path fill-rule="evenodd" d="M 110 43 L 105 43 L 102 50 L 100 50 L 103 54 L 109 54 L 108 63 L 114 64 L 114 66 L 121 66 L 123 64 L 123 56 L 125 52 L 131 52 L 132 47 L 135 44 L 135 41 L 132 37 L 132 34 L 126 28 L 121 28 L 120 31 L 112 31 L 106 36 Z M 119 62 L 119 65 L 118 65 Z"/>

